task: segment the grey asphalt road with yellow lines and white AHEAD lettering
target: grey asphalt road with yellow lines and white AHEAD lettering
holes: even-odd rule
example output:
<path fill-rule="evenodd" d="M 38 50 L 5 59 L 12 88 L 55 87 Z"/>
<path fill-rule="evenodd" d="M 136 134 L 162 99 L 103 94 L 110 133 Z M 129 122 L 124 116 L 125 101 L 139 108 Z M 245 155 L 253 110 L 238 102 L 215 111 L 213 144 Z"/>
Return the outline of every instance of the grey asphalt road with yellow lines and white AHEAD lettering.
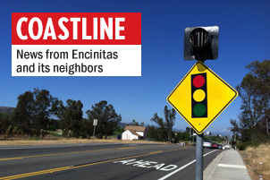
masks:
<path fill-rule="evenodd" d="M 1 179 L 194 179 L 195 147 L 81 144 L 0 147 Z M 222 150 L 204 149 L 204 168 Z"/>

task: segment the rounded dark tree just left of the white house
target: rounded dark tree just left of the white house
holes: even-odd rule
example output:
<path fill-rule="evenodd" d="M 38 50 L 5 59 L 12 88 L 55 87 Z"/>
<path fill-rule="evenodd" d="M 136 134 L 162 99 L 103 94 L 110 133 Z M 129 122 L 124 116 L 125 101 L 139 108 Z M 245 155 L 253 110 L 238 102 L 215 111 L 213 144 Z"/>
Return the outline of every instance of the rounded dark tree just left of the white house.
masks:
<path fill-rule="evenodd" d="M 92 109 L 88 110 L 86 114 L 88 115 L 89 120 L 98 120 L 96 134 L 98 134 L 101 139 L 103 139 L 104 135 L 112 135 L 114 127 L 122 120 L 122 116 L 117 115 L 114 107 L 112 105 L 107 105 L 107 101 L 105 100 L 92 106 Z"/>

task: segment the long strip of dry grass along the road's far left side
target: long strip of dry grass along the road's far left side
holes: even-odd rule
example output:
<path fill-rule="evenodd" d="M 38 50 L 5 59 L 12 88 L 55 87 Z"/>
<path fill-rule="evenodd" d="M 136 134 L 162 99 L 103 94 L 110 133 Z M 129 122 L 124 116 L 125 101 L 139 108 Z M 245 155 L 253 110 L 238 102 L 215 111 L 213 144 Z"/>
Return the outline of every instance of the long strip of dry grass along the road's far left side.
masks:
<path fill-rule="evenodd" d="M 30 140 L 29 137 L 10 137 L 0 138 L 0 146 L 35 146 L 49 144 L 72 144 L 72 143 L 93 143 L 92 139 L 62 138 L 62 137 L 46 137 L 43 140 Z M 99 140 L 95 139 L 94 143 L 160 143 L 154 141 L 122 141 L 117 139 Z"/>

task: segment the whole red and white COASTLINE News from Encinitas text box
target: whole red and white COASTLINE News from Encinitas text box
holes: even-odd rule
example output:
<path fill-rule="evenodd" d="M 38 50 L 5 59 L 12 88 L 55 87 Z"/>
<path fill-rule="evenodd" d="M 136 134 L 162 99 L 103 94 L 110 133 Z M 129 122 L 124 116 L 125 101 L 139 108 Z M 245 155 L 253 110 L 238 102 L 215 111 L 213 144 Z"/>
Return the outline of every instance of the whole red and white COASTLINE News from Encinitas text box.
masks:
<path fill-rule="evenodd" d="M 140 13 L 13 13 L 13 76 L 141 76 Z"/>

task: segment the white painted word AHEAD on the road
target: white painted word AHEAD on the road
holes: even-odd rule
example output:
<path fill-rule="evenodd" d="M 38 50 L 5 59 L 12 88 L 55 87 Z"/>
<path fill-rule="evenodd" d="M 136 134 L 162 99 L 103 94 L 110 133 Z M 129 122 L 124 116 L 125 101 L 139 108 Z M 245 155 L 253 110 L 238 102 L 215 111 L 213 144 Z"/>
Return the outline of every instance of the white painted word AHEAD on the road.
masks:
<path fill-rule="evenodd" d="M 143 160 L 136 160 L 136 159 L 126 159 L 126 160 L 119 160 L 114 161 L 114 163 L 122 163 L 123 165 L 131 165 L 134 167 L 144 167 L 144 168 L 155 168 L 156 170 L 161 171 L 171 171 L 176 168 L 176 165 L 165 165 L 165 163 L 158 163 L 155 161 L 143 161 Z"/>

